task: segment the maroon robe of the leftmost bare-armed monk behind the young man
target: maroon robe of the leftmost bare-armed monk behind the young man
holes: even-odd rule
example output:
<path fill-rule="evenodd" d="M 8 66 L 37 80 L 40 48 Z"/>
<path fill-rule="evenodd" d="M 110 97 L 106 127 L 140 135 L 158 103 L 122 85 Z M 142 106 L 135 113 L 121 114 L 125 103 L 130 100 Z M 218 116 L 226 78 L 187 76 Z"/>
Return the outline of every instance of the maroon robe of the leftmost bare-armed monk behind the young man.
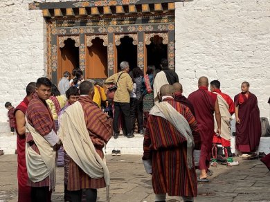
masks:
<path fill-rule="evenodd" d="M 26 114 L 26 110 L 29 104 L 29 100 L 24 98 L 24 100 L 16 107 L 14 111 L 14 116 L 17 110 Z M 17 178 L 18 178 L 18 201 L 28 202 L 31 201 L 31 187 L 27 185 L 28 175 L 26 168 L 26 135 L 19 135 L 17 131 L 17 122 L 15 117 L 15 129 L 17 133 Z"/>

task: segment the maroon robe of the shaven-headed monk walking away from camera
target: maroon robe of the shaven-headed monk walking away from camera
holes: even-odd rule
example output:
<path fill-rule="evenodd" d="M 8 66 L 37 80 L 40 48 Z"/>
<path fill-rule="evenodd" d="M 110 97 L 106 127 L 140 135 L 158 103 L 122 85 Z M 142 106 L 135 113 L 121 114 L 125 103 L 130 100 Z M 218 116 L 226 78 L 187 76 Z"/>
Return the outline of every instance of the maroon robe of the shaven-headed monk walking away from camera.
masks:
<path fill-rule="evenodd" d="M 215 134 L 214 116 L 217 94 L 208 91 L 207 87 L 199 89 L 188 96 L 193 104 L 201 136 L 201 156 L 199 169 L 208 169 L 211 157 L 212 141 Z"/>

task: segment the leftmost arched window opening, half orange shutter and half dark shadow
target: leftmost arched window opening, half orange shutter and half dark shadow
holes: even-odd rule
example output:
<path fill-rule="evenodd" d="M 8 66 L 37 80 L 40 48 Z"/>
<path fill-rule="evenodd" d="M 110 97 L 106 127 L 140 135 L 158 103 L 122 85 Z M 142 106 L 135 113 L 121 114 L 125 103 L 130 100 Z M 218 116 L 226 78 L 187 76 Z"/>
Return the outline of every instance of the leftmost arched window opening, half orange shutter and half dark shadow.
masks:
<path fill-rule="evenodd" d="M 72 73 L 73 68 L 79 68 L 79 47 L 75 46 L 75 41 L 73 39 L 66 39 L 64 44 L 60 46 L 60 57 L 57 68 L 57 80 L 62 78 L 65 71 Z"/>

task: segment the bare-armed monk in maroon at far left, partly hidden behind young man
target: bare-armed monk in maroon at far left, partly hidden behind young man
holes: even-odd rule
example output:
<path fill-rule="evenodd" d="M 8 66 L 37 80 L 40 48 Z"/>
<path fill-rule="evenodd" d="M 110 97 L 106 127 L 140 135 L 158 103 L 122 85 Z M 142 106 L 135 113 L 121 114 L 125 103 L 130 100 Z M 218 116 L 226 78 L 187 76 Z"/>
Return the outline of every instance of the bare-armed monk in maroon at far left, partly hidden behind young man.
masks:
<path fill-rule="evenodd" d="M 18 202 L 31 201 L 31 187 L 27 185 L 28 175 L 26 168 L 26 110 L 35 93 L 35 82 L 26 86 L 26 97 L 16 107 L 15 129 L 17 133 L 17 178 L 18 178 Z"/>

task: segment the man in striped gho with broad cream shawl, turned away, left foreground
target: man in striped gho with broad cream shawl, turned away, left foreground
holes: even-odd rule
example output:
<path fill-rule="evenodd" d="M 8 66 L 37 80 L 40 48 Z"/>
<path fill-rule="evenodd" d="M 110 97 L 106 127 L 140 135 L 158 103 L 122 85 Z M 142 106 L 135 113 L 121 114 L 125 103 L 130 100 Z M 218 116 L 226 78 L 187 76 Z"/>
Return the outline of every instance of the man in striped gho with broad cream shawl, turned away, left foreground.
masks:
<path fill-rule="evenodd" d="M 70 157 L 67 165 L 69 201 L 82 201 L 82 190 L 85 190 L 86 201 L 95 202 L 97 189 L 102 187 L 107 188 L 109 201 L 109 170 L 102 149 L 113 134 L 112 119 L 93 102 L 91 82 L 82 82 L 79 91 L 79 100 L 62 114 L 58 133 Z"/>

